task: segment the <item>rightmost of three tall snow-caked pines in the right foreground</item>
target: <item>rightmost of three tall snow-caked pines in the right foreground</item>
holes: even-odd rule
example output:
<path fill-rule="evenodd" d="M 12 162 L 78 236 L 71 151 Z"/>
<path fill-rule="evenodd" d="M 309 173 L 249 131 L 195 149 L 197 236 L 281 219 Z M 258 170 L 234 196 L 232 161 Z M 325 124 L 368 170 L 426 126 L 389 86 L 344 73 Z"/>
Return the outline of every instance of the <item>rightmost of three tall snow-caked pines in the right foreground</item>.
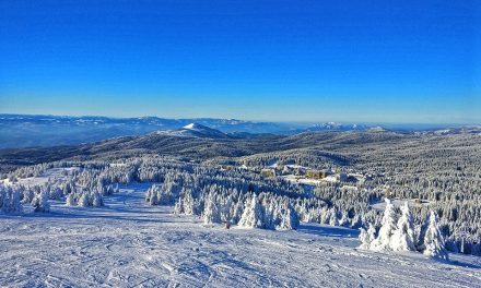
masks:
<path fill-rule="evenodd" d="M 437 225 L 437 217 L 434 212 L 431 212 L 430 224 L 424 236 L 424 255 L 435 259 L 448 260 L 448 254 L 445 248 L 443 236 L 441 235 Z"/>

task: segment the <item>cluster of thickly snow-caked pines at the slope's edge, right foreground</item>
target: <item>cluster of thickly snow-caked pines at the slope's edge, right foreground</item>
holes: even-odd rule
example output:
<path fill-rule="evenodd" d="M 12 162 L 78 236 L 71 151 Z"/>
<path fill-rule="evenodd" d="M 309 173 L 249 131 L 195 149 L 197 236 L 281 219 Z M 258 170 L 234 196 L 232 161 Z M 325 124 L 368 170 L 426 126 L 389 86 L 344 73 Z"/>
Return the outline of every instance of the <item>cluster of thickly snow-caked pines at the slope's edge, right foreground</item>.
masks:
<path fill-rule="evenodd" d="M 377 237 L 373 225 L 367 231 L 361 228 L 361 248 L 375 251 L 422 251 L 425 255 L 447 260 L 436 214 L 431 212 L 427 225 L 415 227 L 408 202 L 400 211 L 401 215 L 398 217 L 394 204 L 386 199 L 386 209 Z"/>

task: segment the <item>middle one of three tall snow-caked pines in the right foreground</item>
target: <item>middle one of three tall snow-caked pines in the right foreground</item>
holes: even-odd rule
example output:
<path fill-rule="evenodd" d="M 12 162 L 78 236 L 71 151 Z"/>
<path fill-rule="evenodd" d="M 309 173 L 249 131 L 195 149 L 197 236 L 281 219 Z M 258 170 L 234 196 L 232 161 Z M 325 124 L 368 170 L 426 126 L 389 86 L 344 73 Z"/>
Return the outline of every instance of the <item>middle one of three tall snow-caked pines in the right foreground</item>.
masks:
<path fill-rule="evenodd" d="M 415 251 L 414 220 L 408 202 L 401 206 L 401 212 L 397 230 L 392 235 L 391 248 L 394 251 Z"/>

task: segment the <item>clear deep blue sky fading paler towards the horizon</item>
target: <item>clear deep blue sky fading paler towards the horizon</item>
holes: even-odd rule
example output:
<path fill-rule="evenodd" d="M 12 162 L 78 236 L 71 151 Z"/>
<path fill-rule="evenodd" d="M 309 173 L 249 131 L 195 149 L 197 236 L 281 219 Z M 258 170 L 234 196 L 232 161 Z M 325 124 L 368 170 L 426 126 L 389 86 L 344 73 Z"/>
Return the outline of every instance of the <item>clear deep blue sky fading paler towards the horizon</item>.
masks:
<path fill-rule="evenodd" d="M 481 122 L 480 5 L 0 0 L 0 112 Z"/>

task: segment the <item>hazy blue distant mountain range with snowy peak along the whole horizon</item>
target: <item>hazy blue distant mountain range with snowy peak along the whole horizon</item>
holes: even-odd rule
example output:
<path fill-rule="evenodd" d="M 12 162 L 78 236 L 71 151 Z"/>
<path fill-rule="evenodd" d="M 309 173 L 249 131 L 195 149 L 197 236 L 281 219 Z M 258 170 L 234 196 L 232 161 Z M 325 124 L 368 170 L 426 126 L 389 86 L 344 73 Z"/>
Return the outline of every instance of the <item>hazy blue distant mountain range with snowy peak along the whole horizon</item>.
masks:
<path fill-rule="evenodd" d="M 392 125 L 359 123 L 288 123 L 256 122 L 236 119 L 157 117 L 109 118 L 0 115 L 0 148 L 57 146 L 89 143 L 118 136 L 166 133 L 197 137 L 257 137 L 260 134 L 293 135 L 317 131 L 402 131 L 410 133 L 477 133 L 480 127 Z"/>

